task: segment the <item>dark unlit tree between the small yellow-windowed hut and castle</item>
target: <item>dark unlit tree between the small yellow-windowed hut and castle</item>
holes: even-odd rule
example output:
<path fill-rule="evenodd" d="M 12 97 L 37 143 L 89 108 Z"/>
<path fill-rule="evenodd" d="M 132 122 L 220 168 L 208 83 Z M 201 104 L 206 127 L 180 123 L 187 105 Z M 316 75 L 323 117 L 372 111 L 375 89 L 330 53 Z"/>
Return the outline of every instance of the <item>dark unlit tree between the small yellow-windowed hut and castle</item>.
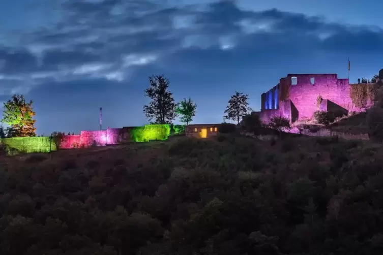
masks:
<path fill-rule="evenodd" d="M 239 124 L 240 119 L 251 111 L 251 108 L 248 107 L 248 100 L 248 94 L 235 91 L 235 94 L 231 96 L 228 102 L 228 106 L 225 110 L 226 115 L 223 116 L 223 118 L 237 120 L 237 124 Z"/>

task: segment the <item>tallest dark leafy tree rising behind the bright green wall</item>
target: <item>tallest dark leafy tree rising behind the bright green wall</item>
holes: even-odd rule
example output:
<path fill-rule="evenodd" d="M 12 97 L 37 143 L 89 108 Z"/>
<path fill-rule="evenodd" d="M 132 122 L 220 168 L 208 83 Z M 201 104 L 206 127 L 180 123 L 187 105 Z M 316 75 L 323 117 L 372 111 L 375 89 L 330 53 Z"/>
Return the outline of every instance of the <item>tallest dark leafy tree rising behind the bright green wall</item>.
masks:
<path fill-rule="evenodd" d="M 145 97 L 152 101 L 143 106 L 143 112 L 150 121 L 156 124 L 171 123 L 177 116 L 176 104 L 173 93 L 169 88 L 169 80 L 163 75 L 152 75 L 149 77 L 150 87 L 145 89 Z"/>

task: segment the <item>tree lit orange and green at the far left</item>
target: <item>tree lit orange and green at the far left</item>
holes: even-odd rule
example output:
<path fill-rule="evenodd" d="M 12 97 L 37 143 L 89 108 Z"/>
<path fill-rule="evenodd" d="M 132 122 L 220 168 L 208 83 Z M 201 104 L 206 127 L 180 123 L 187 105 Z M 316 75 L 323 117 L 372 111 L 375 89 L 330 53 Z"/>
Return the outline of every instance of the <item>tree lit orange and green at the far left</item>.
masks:
<path fill-rule="evenodd" d="M 23 94 L 14 94 L 12 100 L 4 103 L 3 119 L 1 121 L 12 127 L 14 136 L 36 136 L 36 120 L 33 119 L 36 113 L 32 104 L 32 100 L 29 103 L 25 101 Z"/>

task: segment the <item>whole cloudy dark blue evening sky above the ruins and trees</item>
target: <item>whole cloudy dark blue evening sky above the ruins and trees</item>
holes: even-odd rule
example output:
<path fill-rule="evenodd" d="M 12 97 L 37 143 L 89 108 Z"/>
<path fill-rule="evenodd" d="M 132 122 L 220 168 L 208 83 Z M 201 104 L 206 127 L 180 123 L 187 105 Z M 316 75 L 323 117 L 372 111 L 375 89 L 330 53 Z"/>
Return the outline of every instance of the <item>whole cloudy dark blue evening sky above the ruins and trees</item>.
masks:
<path fill-rule="evenodd" d="M 4 3 L 3 3 L 4 2 Z M 258 3 L 264 2 L 264 3 Z M 287 73 L 351 82 L 383 68 L 378 1 L 18 0 L 0 2 L 0 102 L 35 101 L 37 132 L 142 125 L 148 76 L 164 74 L 193 123 L 221 122 L 235 90 L 260 94 Z"/>

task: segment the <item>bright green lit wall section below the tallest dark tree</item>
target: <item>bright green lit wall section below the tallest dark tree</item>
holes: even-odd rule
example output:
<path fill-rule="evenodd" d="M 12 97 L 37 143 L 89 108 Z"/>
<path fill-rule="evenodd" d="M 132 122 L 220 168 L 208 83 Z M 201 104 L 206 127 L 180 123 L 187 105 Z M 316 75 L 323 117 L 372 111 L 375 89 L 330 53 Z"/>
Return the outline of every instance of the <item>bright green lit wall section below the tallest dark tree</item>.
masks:
<path fill-rule="evenodd" d="M 169 135 L 170 126 L 168 124 L 137 126 L 130 131 L 132 141 L 138 143 L 150 140 L 166 140 Z"/>

